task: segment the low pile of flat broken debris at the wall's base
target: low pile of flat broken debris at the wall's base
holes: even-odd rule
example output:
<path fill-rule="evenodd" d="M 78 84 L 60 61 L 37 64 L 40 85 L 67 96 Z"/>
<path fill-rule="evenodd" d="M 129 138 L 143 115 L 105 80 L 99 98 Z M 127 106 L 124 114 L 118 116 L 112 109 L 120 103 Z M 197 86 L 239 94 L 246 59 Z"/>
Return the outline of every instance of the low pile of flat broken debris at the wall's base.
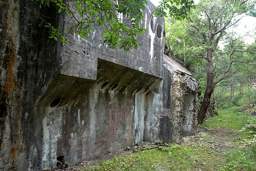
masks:
<path fill-rule="evenodd" d="M 169 144 L 166 143 L 165 141 L 157 140 L 154 143 L 150 143 L 150 142 L 136 143 L 133 147 L 127 146 L 126 150 L 138 152 L 138 151 L 144 151 L 144 150 L 153 149 L 153 148 L 158 148 L 161 150 L 163 147 L 169 147 Z"/>

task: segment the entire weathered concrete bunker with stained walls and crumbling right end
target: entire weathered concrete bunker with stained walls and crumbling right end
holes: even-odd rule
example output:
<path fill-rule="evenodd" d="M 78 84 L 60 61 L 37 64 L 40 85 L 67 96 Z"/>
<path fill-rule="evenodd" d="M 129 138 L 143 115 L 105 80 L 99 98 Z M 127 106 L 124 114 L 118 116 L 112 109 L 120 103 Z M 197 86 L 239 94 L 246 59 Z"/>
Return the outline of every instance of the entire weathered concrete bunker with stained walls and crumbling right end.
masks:
<path fill-rule="evenodd" d="M 0 2 L 0 170 L 51 169 L 59 156 L 72 165 L 196 132 L 196 82 L 163 56 L 164 21 L 150 1 L 142 47 L 131 52 L 109 49 L 102 30 L 69 34 L 65 46 L 49 40 L 33 3 Z M 37 12 L 71 24 L 57 11 Z"/>

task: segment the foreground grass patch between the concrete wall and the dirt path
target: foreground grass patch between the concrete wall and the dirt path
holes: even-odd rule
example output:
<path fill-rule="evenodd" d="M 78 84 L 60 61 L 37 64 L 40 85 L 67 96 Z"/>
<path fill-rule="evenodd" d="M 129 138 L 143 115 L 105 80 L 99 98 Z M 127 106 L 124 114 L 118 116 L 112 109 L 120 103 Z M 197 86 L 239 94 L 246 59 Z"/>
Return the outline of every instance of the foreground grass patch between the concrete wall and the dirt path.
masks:
<path fill-rule="evenodd" d="M 208 163 L 211 160 L 212 152 L 207 151 L 205 147 L 193 147 L 191 145 L 184 147 L 178 144 L 170 144 L 170 147 L 150 149 L 131 155 L 122 155 L 112 160 L 101 161 L 99 165 L 91 170 L 199 170 L 197 163 L 203 163 L 208 168 L 212 166 Z M 221 161 L 221 158 L 215 158 L 215 163 Z M 213 163 L 211 160 L 210 163 Z"/>

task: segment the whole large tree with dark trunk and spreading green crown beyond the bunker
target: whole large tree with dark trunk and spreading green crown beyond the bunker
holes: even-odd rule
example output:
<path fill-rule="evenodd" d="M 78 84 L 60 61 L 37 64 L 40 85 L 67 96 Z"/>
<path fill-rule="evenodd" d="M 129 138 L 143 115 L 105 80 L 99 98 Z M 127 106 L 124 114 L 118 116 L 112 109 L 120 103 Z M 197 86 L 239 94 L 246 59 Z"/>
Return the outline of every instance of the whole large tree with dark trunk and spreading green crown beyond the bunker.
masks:
<path fill-rule="evenodd" d="M 255 50 L 254 46 L 245 44 L 242 36 L 233 31 L 254 5 L 254 0 L 201 0 L 189 14 L 189 20 L 166 20 L 169 51 L 194 68 L 203 87 L 199 123 L 203 122 L 215 86 L 227 76 L 233 63 L 244 61 L 246 56 L 255 59 L 248 54 Z"/>

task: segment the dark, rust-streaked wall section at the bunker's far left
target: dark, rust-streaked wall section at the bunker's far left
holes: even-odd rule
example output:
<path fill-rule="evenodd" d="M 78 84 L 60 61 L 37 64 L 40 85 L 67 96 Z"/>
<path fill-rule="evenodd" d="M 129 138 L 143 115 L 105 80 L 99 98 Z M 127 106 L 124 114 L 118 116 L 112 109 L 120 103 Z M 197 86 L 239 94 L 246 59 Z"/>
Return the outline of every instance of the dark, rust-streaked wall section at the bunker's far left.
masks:
<path fill-rule="evenodd" d="M 31 1 L 3 0 L 0 8 L 0 170 L 37 170 L 42 130 L 37 101 L 56 75 L 58 43 L 48 40 Z"/>

